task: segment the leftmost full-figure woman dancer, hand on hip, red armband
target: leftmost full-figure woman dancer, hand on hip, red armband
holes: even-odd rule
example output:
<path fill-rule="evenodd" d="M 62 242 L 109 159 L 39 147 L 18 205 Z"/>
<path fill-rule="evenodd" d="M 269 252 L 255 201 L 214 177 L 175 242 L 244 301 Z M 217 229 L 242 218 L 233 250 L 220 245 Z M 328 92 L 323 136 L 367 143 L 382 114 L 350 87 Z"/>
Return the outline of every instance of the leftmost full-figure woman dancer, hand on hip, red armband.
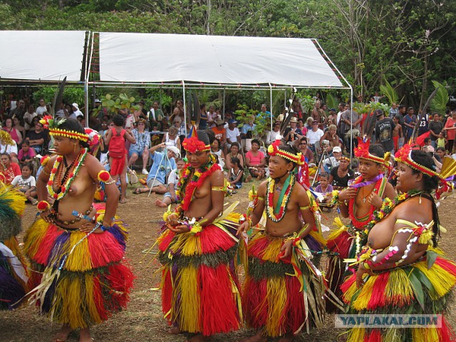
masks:
<path fill-rule="evenodd" d="M 109 173 L 88 153 L 88 134 L 77 120 L 45 118 L 56 155 L 37 181 L 40 217 L 24 247 L 33 276 L 31 301 L 62 323 L 54 341 L 81 328 L 79 341 L 92 341 L 90 326 L 106 321 L 129 301 L 133 274 L 123 264 L 126 231 L 115 220 L 119 191 Z M 92 204 L 105 183 L 105 212 Z M 54 202 L 46 202 L 47 196 Z"/>

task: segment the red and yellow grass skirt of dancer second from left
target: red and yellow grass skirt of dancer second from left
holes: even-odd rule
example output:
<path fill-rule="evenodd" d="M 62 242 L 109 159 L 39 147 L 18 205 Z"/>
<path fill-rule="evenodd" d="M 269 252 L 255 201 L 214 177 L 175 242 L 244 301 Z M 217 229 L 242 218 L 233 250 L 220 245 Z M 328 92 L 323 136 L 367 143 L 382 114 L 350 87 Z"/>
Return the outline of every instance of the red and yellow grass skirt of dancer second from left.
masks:
<path fill-rule="evenodd" d="M 238 225 L 239 214 L 232 213 L 197 234 L 162 232 L 157 241 L 162 309 L 170 325 L 204 336 L 239 329 Z"/>

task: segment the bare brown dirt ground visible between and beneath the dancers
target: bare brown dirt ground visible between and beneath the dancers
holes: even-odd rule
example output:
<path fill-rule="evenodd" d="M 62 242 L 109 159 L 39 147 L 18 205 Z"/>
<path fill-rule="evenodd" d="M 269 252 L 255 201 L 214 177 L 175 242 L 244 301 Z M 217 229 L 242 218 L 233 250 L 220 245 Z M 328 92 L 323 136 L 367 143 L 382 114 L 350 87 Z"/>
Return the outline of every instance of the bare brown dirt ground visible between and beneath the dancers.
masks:
<path fill-rule="evenodd" d="M 231 204 L 239 201 L 237 209 L 239 212 L 244 212 L 247 208 L 247 194 L 251 186 L 252 183 L 247 183 L 242 190 L 225 202 Z M 173 336 L 167 333 L 167 324 L 162 318 L 160 292 L 156 290 L 160 284 L 160 274 L 157 273 L 159 264 L 153 259 L 155 254 L 145 254 L 145 250 L 150 249 L 155 242 L 158 222 L 164 212 L 164 209 L 155 206 L 155 200 L 161 199 L 161 195 L 152 194 L 150 197 L 147 197 L 147 194 L 131 195 L 131 190 L 133 188 L 129 187 L 128 202 L 119 204 L 118 215 L 128 223 L 130 228 L 127 257 L 137 276 L 135 289 L 131 294 L 128 310 L 93 327 L 92 336 L 94 341 L 186 341 L 184 335 Z M 442 237 L 440 247 L 454 258 L 456 235 L 453 229 L 456 223 L 454 214 L 456 199 L 453 197 L 454 195 L 442 201 L 439 210 L 441 223 L 448 230 L 447 234 Z M 24 229 L 28 229 L 35 214 L 34 207 L 28 204 L 24 215 Z M 334 212 L 324 213 L 323 224 L 331 227 L 335 216 Z M 242 269 L 239 271 L 242 272 Z M 449 308 L 448 321 L 452 325 L 456 321 L 455 314 L 452 314 L 454 307 L 452 305 Z M 5 342 L 52 341 L 60 328 L 58 324 L 38 316 L 36 309 L 31 306 L 24 306 L 17 311 L 0 312 L 0 322 L 0 340 Z M 334 328 L 333 316 L 328 315 L 323 329 L 311 331 L 310 335 L 303 334 L 295 341 L 337 341 L 341 333 L 343 333 L 341 329 Z M 252 334 L 252 331 L 244 329 L 232 334 L 214 336 L 211 341 L 238 341 L 239 338 L 249 336 L 249 334 Z M 68 341 L 78 341 L 78 334 L 72 333 Z"/>

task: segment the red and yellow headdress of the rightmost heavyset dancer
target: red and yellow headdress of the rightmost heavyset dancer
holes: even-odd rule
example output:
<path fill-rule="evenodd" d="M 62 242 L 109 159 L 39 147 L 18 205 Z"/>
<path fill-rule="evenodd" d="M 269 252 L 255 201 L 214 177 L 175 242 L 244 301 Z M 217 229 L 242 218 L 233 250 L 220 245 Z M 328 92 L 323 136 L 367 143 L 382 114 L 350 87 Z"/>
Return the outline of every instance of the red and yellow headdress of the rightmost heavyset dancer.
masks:
<path fill-rule="evenodd" d="M 403 147 L 395 153 L 394 159 L 397 162 L 404 162 L 413 169 L 423 172 L 425 175 L 439 177 L 441 185 L 435 192 L 435 197 L 437 197 L 437 199 L 440 198 L 443 192 L 452 190 L 452 187 L 447 182 L 447 178 L 456 175 L 456 160 L 451 157 L 443 158 L 442 169 L 440 170 L 440 173 L 437 173 L 435 170 L 431 170 L 430 168 L 415 162 L 412 159 L 412 151 L 413 148 L 411 145 L 403 145 Z"/>

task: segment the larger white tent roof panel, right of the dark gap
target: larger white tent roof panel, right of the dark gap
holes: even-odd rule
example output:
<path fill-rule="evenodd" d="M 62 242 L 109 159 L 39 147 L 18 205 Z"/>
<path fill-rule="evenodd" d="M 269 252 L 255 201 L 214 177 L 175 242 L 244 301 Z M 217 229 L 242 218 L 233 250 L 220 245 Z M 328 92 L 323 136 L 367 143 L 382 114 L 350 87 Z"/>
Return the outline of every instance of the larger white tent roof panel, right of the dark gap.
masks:
<path fill-rule="evenodd" d="M 100 33 L 101 82 L 345 88 L 311 39 Z"/>

